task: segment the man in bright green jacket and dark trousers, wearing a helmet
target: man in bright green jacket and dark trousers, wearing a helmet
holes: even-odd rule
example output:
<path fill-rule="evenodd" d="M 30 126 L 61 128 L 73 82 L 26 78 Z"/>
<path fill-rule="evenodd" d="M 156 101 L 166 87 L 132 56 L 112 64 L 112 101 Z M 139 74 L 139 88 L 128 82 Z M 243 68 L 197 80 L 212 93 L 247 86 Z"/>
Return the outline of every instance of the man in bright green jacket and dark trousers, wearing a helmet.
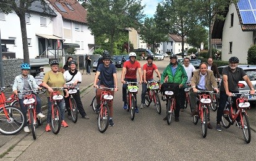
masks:
<path fill-rule="evenodd" d="M 167 67 L 164 69 L 162 75 L 161 75 L 161 81 L 160 86 L 164 83 L 164 78 L 168 76 L 168 83 L 177 83 L 179 84 L 179 93 L 182 90 L 182 87 L 186 86 L 187 82 L 187 73 L 184 67 L 177 62 L 177 56 L 175 54 L 172 54 L 170 56 L 170 64 L 167 65 Z M 161 89 L 163 90 L 163 89 Z M 176 108 L 174 110 L 175 114 L 175 121 L 179 122 L 179 110 L 181 109 L 181 99 L 180 94 L 176 94 Z M 166 110 L 168 110 L 167 104 L 166 104 Z M 166 120 L 167 116 L 164 117 L 163 120 Z"/>

